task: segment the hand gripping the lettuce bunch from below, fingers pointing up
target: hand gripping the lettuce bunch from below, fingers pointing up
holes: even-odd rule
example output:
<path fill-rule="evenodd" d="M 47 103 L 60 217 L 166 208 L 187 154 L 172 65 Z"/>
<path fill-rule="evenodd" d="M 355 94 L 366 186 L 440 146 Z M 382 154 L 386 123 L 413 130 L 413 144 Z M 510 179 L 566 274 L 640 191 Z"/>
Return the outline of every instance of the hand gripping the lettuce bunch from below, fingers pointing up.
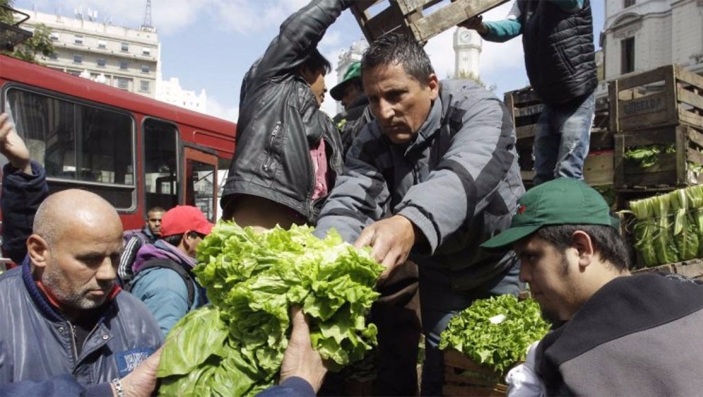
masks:
<path fill-rule="evenodd" d="M 293 332 L 280 364 L 280 382 L 290 377 L 307 381 L 317 393 L 327 374 L 320 353 L 312 348 L 310 327 L 301 308 L 290 309 Z"/>

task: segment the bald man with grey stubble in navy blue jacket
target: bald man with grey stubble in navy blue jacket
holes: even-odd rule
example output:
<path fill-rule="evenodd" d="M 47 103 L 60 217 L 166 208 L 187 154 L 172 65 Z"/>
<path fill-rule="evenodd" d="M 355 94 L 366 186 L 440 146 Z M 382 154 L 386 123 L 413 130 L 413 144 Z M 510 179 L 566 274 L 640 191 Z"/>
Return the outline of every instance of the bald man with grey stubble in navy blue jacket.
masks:
<path fill-rule="evenodd" d="M 121 250 L 122 223 L 100 196 L 41 203 L 27 258 L 0 275 L 0 395 L 152 393 L 162 333 L 115 284 Z"/>

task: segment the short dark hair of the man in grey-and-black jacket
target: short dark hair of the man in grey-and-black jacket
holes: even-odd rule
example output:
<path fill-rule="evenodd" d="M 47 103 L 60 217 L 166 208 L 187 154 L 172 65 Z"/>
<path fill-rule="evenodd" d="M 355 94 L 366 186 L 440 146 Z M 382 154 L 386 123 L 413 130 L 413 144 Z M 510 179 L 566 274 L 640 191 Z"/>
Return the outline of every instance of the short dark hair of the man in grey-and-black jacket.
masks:
<path fill-rule="evenodd" d="M 430 57 L 408 34 L 389 33 L 372 42 L 361 57 L 361 75 L 378 66 L 403 65 L 405 73 L 420 82 L 430 82 L 434 73 Z"/>

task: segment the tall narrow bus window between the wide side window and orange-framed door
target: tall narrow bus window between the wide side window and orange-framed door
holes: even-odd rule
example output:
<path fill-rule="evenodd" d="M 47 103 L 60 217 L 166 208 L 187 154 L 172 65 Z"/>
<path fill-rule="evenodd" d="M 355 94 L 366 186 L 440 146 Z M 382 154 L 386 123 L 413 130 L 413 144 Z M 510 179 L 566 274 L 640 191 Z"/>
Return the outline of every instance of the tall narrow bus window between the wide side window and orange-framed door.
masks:
<path fill-rule="evenodd" d="M 178 203 L 178 129 L 170 122 L 144 120 L 144 210 L 169 210 Z"/>

